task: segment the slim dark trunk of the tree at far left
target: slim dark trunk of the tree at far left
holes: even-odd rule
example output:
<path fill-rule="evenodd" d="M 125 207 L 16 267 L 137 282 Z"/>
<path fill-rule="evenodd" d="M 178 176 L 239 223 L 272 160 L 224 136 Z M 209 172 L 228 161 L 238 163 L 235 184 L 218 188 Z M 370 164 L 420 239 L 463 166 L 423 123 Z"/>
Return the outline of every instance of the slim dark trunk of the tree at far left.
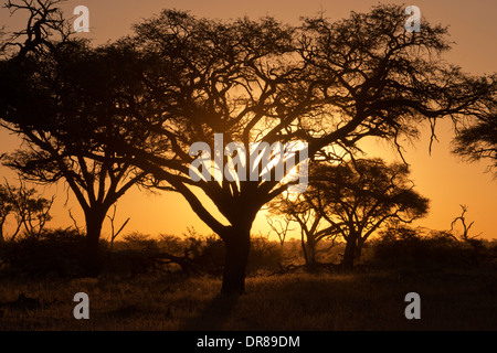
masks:
<path fill-rule="evenodd" d="M 104 218 L 105 213 L 102 215 L 102 213 L 95 212 L 86 215 L 86 244 L 83 266 L 85 275 L 88 277 L 96 277 L 102 270 L 99 239 Z"/>

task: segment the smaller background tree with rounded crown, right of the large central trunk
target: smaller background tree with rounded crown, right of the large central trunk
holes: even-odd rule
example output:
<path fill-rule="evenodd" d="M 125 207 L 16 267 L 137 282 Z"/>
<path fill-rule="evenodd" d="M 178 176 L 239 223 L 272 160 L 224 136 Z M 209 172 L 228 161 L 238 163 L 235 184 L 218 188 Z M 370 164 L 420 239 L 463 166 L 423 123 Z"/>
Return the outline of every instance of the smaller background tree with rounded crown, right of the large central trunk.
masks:
<path fill-rule="evenodd" d="M 308 190 L 293 202 L 285 200 L 279 212 L 300 224 L 308 248 L 322 237 L 340 235 L 346 240 L 342 265 L 351 268 L 381 225 L 411 223 L 426 214 L 429 200 L 413 190 L 409 173 L 405 164 L 381 159 L 320 162 L 310 169 Z"/>

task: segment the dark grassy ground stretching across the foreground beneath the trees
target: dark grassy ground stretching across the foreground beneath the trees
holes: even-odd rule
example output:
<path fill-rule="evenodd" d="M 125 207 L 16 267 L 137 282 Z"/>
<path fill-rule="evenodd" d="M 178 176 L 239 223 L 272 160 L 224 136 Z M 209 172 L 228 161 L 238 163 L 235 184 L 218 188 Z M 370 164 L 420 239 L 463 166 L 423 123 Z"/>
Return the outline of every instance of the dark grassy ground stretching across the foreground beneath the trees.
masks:
<path fill-rule="evenodd" d="M 180 275 L 1 279 L 0 330 L 497 330 L 497 277 L 483 270 L 256 276 L 237 299 L 220 287 Z M 89 320 L 73 317 L 81 291 Z M 404 317 L 412 291 L 421 320 Z M 20 293 L 36 300 L 23 304 Z"/>

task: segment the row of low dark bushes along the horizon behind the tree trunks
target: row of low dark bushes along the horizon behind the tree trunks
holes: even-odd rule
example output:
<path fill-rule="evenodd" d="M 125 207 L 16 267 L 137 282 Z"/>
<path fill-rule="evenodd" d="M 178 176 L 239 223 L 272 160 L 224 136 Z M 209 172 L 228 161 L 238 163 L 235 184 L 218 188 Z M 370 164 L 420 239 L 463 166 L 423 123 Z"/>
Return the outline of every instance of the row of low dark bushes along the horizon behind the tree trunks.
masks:
<path fill-rule="evenodd" d="M 130 233 L 110 249 L 102 240 L 104 275 L 136 276 L 151 272 L 222 274 L 224 244 L 213 235 L 194 232 L 186 236 L 151 237 Z M 22 237 L 0 244 L 0 274 L 29 277 L 80 277 L 84 235 L 75 229 L 46 229 L 39 238 Z M 321 260 L 338 264 L 343 245 L 329 248 L 328 242 L 318 247 Z M 248 275 L 275 274 L 282 269 L 299 268 L 303 253 L 300 242 L 292 239 L 282 246 L 265 237 L 253 237 L 247 265 Z M 163 257 L 161 255 L 172 255 Z M 497 266 L 497 244 L 470 238 L 458 240 L 448 232 L 435 232 L 406 226 L 389 227 L 370 243 L 368 257 L 361 268 L 388 270 L 470 269 Z M 172 259 L 172 261 L 171 261 Z M 181 267 L 183 266 L 183 267 Z M 327 267 L 336 270 L 337 267 Z M 191 271 L 192 270 L 192 271 Z"/>

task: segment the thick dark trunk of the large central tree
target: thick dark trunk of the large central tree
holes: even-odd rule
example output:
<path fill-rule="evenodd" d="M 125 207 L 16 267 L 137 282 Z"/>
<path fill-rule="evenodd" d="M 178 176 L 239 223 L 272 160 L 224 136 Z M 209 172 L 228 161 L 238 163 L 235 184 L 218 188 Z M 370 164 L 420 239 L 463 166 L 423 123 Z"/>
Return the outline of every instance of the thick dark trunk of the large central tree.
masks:
<path fill-rule="evenodd" d="M 224 239 L 225 261 L 221 293 L 239 296 L 245 292 L 245 270 L 251 248 L 251 226 L 233 228 Z"/>

